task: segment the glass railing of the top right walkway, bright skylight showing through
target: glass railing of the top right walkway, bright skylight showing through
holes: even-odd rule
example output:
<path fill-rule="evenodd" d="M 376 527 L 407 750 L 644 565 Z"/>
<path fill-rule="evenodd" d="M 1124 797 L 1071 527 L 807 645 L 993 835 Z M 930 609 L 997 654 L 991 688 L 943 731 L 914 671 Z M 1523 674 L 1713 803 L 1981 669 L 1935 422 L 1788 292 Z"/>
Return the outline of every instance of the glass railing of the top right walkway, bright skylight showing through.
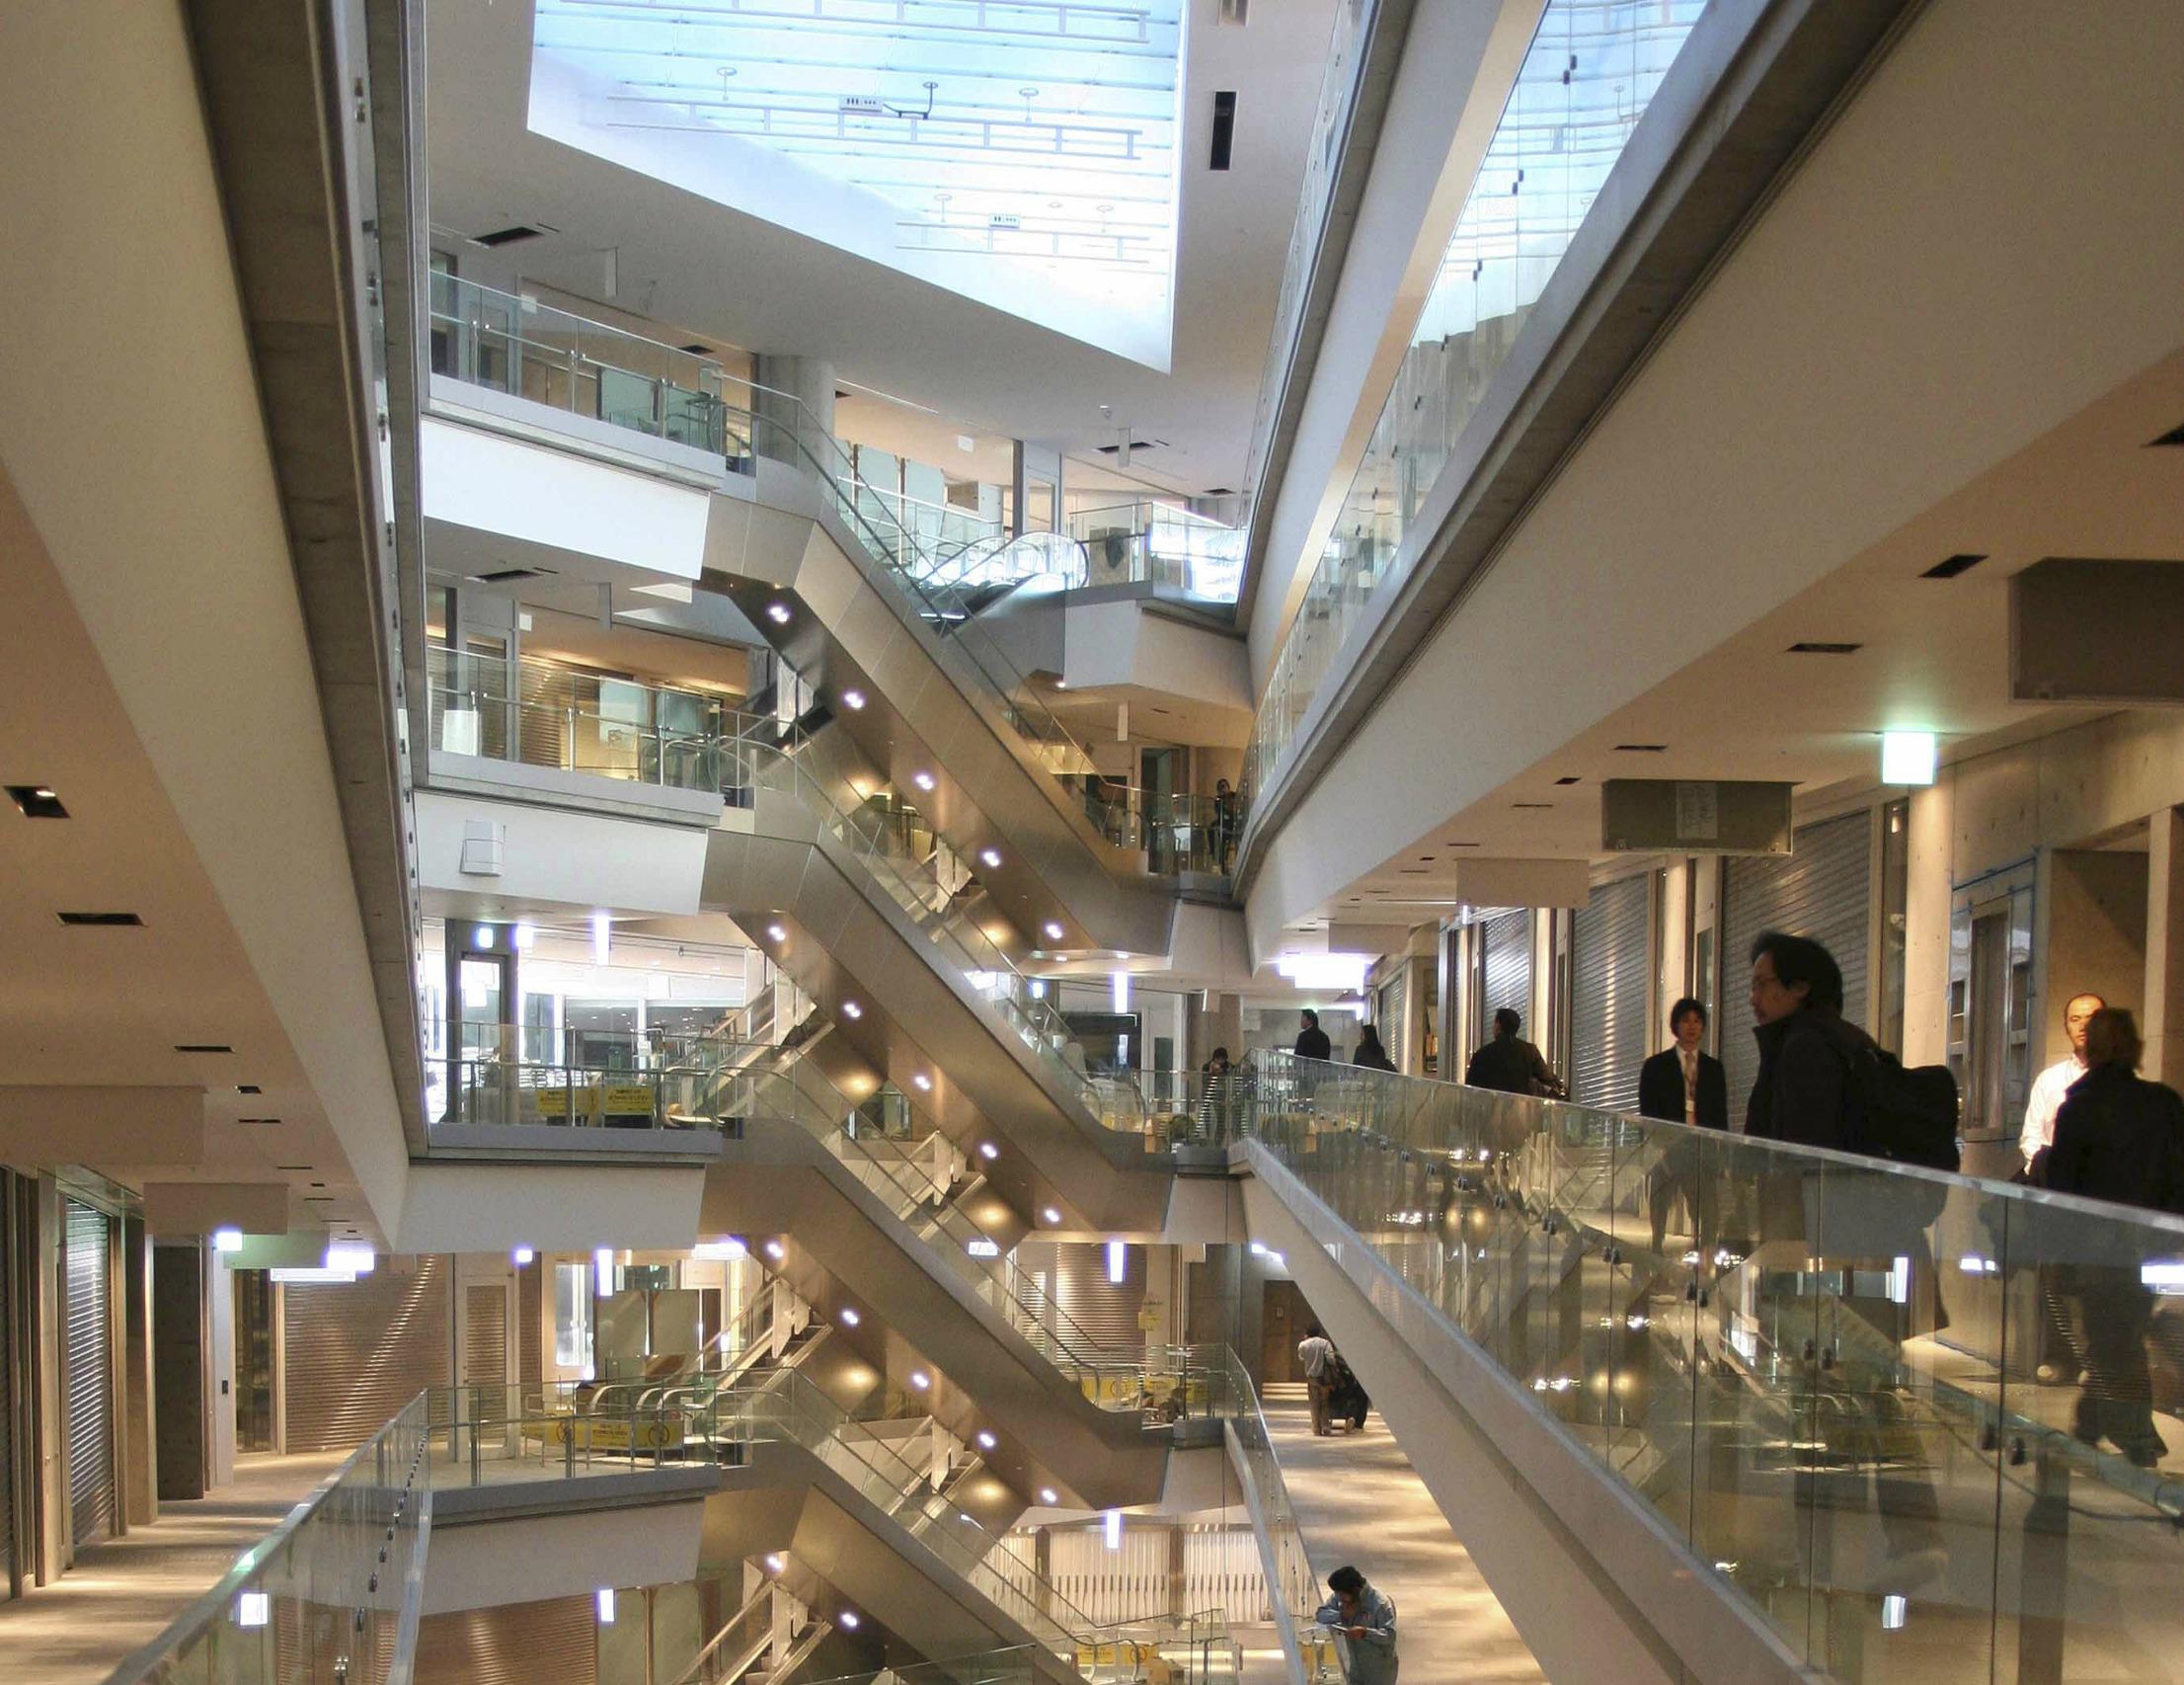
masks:
<path fill-rule="evenodd" d="M 1245 750 L 1271 785 L 1706 0 L 1548 0 Z"/>

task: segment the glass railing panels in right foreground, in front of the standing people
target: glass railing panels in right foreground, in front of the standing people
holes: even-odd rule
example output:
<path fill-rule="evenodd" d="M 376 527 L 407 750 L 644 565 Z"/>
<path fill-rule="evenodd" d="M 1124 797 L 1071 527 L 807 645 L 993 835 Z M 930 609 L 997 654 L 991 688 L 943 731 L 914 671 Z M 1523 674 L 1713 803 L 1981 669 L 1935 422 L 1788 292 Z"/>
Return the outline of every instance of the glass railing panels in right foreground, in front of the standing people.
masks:
<path fill-rule="evenodd" d="M 1286 1053 L 1247 1110 L 1808 1665 L 2184 1652 L 2114 1602 L 2184 1528 L 2184 1219 Z"/>

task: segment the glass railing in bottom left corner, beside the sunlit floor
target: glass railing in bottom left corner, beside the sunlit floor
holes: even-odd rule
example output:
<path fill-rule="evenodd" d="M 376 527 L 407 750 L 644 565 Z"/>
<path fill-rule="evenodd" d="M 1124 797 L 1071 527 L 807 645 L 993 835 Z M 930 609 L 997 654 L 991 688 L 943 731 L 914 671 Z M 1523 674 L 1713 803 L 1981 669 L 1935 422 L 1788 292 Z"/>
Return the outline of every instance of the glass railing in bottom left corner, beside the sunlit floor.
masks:
<path fill-rule="evenodd" d="M 424 1609 L 428 1501 L 419 1394 L 109 1685 L 406 1681 Z"/>

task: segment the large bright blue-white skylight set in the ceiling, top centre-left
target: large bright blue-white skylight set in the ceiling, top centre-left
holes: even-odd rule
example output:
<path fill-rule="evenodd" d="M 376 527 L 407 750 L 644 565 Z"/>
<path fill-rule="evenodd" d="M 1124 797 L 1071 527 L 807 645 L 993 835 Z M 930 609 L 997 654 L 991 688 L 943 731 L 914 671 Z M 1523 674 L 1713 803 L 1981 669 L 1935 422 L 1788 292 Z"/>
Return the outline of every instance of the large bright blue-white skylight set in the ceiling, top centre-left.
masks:
<path fill-rule="evenodd" d="M 1166 365 L 1182 0 L 537 0 L 531 127 Z"/>

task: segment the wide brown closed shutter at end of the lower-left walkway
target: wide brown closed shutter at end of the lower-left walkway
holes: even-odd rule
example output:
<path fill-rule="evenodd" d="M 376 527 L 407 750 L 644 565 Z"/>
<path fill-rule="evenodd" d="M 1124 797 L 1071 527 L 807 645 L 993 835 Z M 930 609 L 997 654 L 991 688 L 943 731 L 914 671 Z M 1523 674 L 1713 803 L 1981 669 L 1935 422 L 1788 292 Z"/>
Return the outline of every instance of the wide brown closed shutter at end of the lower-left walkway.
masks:
<path fill-rule="evenodd" d="M 452 1377 L 452 1263 L 422 1254 L 415 1270 L 389 1259 L 369 1276 L 282 1289 L 288 1449 L 363 1445 L 402 1405 Z"/>

